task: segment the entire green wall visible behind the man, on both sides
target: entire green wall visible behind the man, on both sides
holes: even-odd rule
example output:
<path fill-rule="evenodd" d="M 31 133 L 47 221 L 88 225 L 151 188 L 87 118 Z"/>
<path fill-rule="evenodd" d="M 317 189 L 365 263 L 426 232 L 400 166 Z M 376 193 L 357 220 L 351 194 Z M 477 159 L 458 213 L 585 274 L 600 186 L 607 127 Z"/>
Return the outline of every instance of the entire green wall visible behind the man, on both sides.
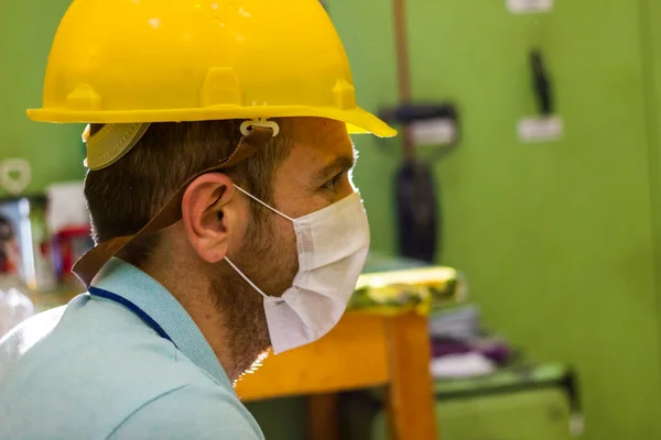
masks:
<path fill-rule="evenodd" d="M 84 173 L 80 127 L 31 123 L 24 113 L 40 105 L 50 41 L 67 3 L 0 4 L 0 157 L 32 162 L 31 190 Z M 587 439 L 661 438 L 661 4 L 557 0 L 548 15 L 513 16 L 503 3 L 409 2 L 413 94 L 453 99 L 464 117 L 460 148 L 435 168 L 443 263 L 467 273 L 490 324 L 537 359 L 579 369 Z M 394 103 L 390 1 L 327 4 L 361 105 Z M 554 77 L 566 124 L 559 143 L 516 139 L 517 119 L 534 111 L 532 45 Z M 373 245 L 394 253 L 400 143 L 356 142 Z M 299 403 L 286 408 L 301 420 Z M 261 419 L 280 429 L 275 437 L 299 438 L 295 427 L 285 432 L 283 415 Z"/>

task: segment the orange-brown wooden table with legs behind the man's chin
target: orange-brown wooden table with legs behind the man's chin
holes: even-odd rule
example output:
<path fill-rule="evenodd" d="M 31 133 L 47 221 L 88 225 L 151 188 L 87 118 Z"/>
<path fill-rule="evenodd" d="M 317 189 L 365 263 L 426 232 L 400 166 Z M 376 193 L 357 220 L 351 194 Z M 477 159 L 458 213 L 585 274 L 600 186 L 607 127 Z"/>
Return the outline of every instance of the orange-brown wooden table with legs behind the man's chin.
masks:
<path fill-rule="evenodd" d="M 348 312 L 322 340 L 270 355 L 237 384 L 243 402 L 308 397 L 308 436 L 338 440 L 337 393 L 384 386 L 393 440 L 435 440 L 427 319 Z"/>

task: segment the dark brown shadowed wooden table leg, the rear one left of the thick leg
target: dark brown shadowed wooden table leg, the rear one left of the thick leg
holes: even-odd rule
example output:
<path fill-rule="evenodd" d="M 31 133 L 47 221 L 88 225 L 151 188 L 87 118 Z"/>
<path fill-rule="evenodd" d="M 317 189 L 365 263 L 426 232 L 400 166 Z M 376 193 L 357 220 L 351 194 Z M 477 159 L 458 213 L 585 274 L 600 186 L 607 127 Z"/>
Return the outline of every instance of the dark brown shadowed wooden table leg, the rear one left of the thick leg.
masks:
<path fill-rule="evenodd" d="M 307 397 L 307 439 L 339 440 L 339 396 L 314 394 Z"/>

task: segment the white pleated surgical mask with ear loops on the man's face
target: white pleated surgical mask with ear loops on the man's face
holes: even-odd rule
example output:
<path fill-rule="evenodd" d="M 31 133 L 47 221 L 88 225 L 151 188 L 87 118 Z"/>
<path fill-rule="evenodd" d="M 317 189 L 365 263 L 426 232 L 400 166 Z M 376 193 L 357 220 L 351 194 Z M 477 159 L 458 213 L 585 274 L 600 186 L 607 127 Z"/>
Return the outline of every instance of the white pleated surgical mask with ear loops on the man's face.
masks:
<path fill-rule="evenodd" d="M 327 208 L 292 219 L 236 188 L 290 220 L 296 233 L 299 273 L 293 286 L 281 297 L 266 295 L 225 257 L 264 297 L 273 352 L 282 353 L 316 341 L 342 318 L 367 258 L 369 226 L 360 196 L 354 193 Z"/>

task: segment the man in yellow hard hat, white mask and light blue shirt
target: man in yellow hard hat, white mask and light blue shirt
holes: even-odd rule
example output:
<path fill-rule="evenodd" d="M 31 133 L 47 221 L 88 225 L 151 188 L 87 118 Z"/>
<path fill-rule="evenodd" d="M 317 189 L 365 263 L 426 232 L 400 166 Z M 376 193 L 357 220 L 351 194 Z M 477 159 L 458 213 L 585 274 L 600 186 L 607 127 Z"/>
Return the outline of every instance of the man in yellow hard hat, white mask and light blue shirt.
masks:
<path fill-rule="evenodd" d="M 369 245 L 317 0 L 75 0 L 47 122 L 87 122 L 88 294 L 0 341 L 2 439 L 261 439 L 231 384 L 339 320 Z M 311 365 L 311 367 L 314 367 Z"/>

